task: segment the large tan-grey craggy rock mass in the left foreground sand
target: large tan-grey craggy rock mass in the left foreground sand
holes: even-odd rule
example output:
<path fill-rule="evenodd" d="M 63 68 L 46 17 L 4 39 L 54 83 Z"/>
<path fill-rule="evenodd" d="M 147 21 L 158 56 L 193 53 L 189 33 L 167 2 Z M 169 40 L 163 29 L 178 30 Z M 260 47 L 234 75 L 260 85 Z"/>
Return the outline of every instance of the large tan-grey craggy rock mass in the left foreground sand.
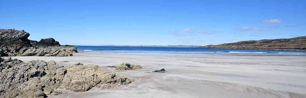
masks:
<path fill-rule="evenodd" d="M 54 61 L 25 63 L 11 58 L 0 58 L 0 72 L 0 97 L 4 98 L 43 98 L 61 94 L 61 91 L 54 90 L 57 88 L 84 92 L 95 86 L 112 88 L 134 81 L 116 76 L 114 72 L 104 72 L 98 65 L 77 63 L 64 67 Z"/>

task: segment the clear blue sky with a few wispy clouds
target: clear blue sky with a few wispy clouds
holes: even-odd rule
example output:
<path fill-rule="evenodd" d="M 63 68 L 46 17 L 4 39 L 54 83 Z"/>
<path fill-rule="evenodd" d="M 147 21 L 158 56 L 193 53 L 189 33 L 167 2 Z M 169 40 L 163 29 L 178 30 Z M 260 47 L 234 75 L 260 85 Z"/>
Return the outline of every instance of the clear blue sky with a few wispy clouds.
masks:
<path fill-rule="evenodd" d="M 0 28 L 61 45 L 217 45 L 306 36 L 306 0 L 2 0 Z"/>

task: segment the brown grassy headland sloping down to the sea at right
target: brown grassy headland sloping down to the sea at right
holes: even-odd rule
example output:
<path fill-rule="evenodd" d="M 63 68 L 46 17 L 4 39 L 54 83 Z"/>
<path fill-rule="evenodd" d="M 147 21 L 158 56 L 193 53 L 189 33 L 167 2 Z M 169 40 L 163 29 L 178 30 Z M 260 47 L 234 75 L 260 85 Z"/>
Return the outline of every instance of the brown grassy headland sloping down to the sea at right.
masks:
<path fill-rule="evenodd" d="M 239 41 L 220 45 L 206 45 L 198 48 L 226 49 L 265 49 L 265 50 L 295 50 L 306 51 L 306 36 L 289 39 L 264 39 L 258 41 Z"/>

